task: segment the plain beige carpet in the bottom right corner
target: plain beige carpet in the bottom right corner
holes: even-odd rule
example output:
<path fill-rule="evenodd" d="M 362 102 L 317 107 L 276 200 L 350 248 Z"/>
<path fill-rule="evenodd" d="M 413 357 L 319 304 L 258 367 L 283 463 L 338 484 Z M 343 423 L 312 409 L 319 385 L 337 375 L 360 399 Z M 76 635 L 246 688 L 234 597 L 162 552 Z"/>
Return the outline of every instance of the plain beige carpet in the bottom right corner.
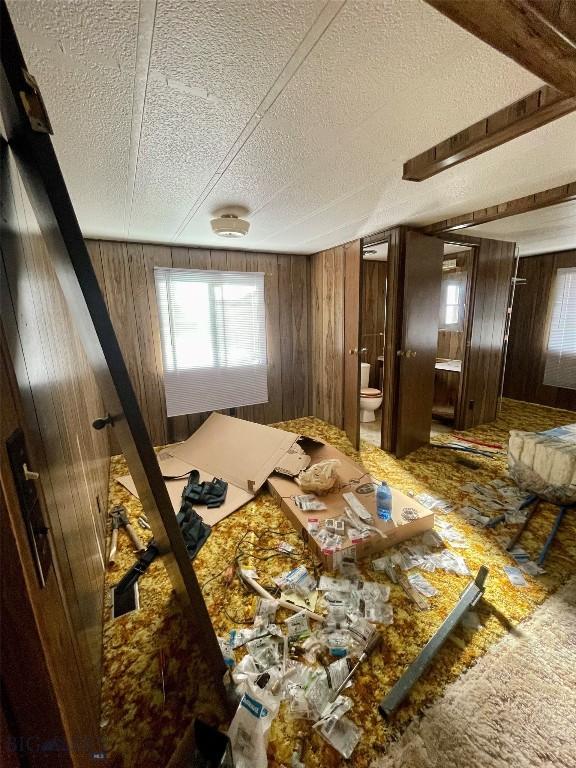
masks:
<path fill-rule="evenodd" d="M 455 683 L 373 768 L 574 768 L 576 578 Z"/>

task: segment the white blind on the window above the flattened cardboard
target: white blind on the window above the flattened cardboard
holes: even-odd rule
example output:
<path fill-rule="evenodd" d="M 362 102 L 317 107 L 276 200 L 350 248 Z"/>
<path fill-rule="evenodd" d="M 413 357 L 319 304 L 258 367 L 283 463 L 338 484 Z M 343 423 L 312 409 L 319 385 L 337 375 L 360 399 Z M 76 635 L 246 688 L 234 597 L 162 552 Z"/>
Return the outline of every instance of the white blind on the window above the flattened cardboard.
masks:
<path fill-rule="evenodd" d="M 262 272 L 154 270 L 168 416 L 268 401 Z"/>

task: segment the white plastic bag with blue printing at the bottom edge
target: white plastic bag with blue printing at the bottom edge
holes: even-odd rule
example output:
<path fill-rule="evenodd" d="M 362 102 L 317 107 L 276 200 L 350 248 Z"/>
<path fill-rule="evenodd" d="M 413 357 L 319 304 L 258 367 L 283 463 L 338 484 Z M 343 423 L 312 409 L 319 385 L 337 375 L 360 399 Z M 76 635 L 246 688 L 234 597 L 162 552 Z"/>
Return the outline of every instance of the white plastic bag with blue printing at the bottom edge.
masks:
<path fill-rule="evenodd" d="M 236 768 L 267 768 L 266 747 L 279 702 L 251 683 L 228 730 Z"/>

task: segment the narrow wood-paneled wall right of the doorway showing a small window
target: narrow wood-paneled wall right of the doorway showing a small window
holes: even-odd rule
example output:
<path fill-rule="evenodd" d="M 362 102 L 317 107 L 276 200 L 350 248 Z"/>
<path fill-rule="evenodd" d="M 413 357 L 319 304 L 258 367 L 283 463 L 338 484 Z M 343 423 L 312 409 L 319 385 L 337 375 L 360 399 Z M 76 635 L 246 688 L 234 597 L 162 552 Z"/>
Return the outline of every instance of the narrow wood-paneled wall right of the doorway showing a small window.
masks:
<path fill-rule="evenodd" d="M 514 243 L 482 238 L 474 267 L 470 347 L 464 356 L 461 429 L 494 421 L 498 412 Z"/>

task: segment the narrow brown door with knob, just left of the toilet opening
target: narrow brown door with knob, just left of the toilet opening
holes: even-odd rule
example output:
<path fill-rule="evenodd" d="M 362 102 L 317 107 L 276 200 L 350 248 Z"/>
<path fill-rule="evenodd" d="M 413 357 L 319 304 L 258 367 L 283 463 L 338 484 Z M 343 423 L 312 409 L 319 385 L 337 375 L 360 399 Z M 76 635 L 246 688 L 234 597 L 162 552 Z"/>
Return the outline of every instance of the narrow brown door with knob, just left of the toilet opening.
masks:
<path fill-rule="evenodd" d="M 360 240 L 344 246 L 344 431 L 360 447 Z"/>

